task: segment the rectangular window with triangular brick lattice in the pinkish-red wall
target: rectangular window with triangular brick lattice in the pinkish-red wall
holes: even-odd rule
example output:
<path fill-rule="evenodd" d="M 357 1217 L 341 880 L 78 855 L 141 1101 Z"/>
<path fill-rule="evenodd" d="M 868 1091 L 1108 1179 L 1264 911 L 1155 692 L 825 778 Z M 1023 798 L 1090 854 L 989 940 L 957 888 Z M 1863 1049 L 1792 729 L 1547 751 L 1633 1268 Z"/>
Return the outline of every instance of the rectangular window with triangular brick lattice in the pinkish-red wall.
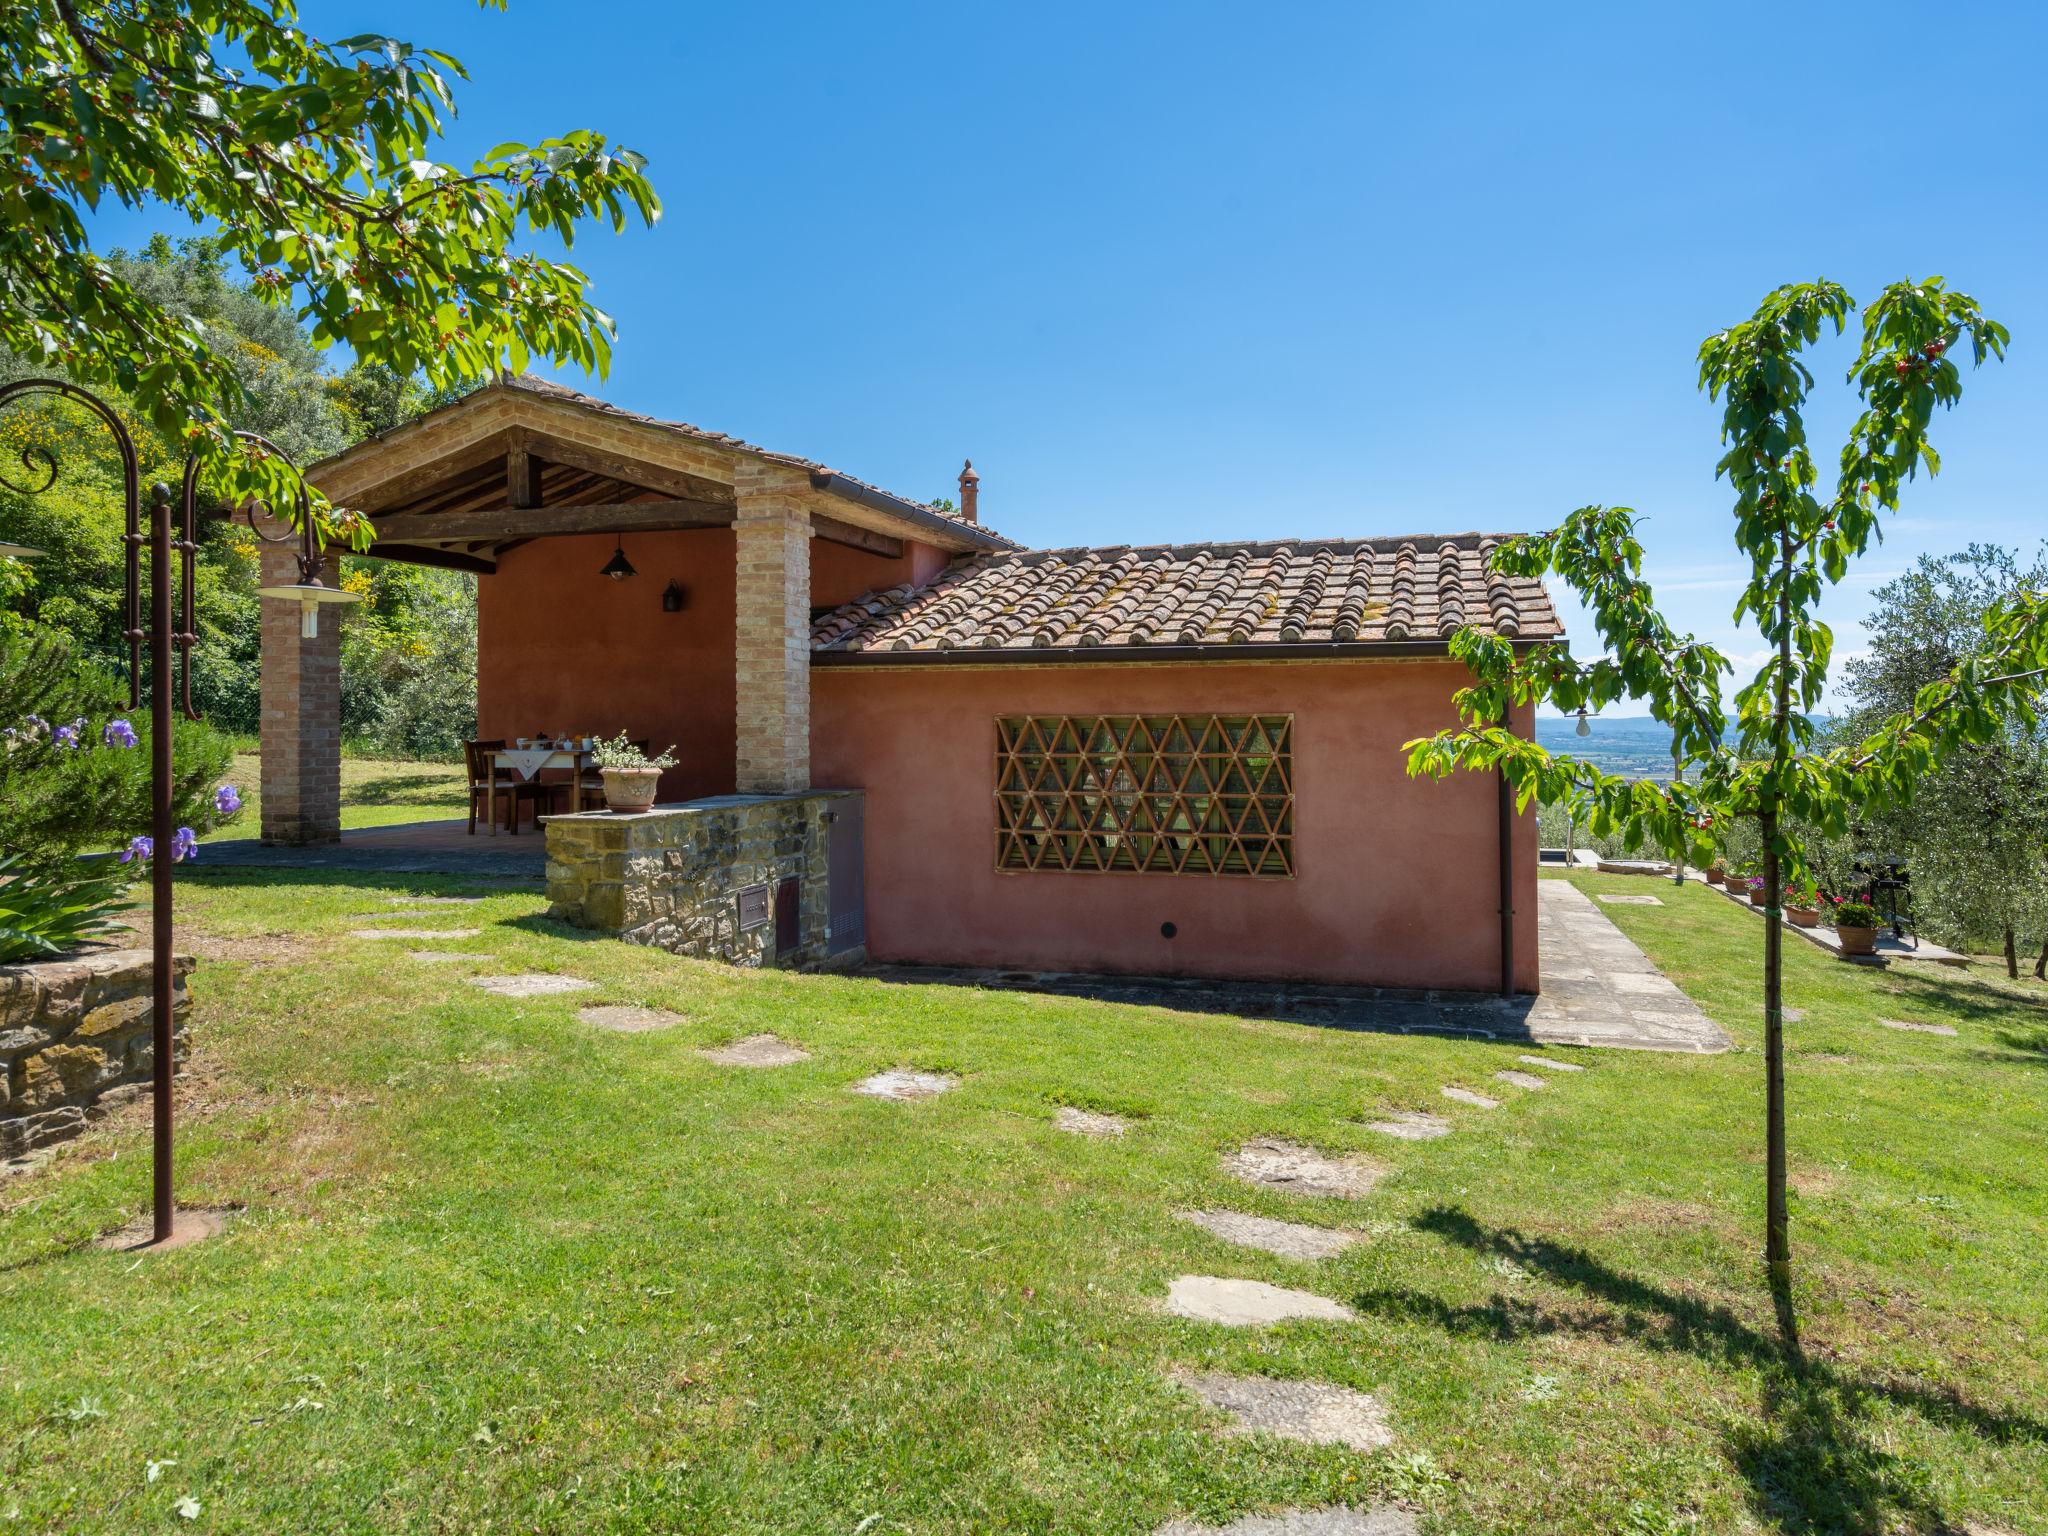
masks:
<path fill-rule="evenodd" d="M 995 866 L 1294 874 L 1292 715 L 1001 715 Z"/>

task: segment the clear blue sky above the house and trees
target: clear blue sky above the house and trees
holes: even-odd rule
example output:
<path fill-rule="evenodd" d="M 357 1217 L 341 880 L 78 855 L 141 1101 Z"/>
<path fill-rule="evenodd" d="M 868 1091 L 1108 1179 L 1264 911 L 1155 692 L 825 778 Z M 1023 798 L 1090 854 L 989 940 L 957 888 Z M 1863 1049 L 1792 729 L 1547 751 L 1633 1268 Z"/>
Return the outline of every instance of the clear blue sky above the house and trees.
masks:
<path fill-rule="evenodd" d="M 303 12 L 461 55 L 455 156 L 567 127 L 649 156 L 662 225 L 575 250 L 621 328 L 586 387 L 924 498 L 973 455 L 1034 545 L 1618 502 L 1679 625 L 1751 655 L 1694 350 L 1782 281 L 1927 272 L 2013 352 L 1833 600 L 1839 647 L 1915 553 L 2048 535 L 2038 6 Z M 1847 356 L 1817 358 L 1823 465 Z"/>

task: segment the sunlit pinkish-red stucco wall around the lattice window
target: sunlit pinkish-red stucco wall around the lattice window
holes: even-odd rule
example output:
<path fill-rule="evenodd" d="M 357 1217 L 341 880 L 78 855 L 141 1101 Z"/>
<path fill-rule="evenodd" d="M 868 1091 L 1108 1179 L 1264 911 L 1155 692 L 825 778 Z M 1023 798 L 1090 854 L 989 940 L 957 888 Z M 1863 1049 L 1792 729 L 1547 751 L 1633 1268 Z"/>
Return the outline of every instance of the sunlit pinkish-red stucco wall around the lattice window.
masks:
<path fill-rule="evenodd" d="M 866 791 L 881 961 L 1499 987 L 1491 776 L 1411 780 L 1448 662 L 813 668 L 811 778 Z M 995 870 L 997 713 L 1292 713 L 1296 879 Z M 1524 711 L 1518 729 L 1528 731 Z M 1536 817 L 1516 825 L 1516 979 L 1536 989 Z M 1159 926 L 1171 922 L 1176 938 Z"/>

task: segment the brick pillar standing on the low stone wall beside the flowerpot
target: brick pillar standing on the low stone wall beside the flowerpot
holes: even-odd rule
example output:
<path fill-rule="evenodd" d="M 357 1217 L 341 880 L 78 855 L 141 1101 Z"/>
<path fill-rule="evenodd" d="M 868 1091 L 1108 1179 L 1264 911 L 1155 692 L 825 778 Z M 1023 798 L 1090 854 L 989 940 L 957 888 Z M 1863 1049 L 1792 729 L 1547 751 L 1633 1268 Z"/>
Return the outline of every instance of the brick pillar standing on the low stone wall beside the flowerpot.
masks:
<path fill-rule="evenodd" d="M 741 795 L 778 795 L 811 786 L 809 479 L 782 465 L 748 463 L 733 489 L 733 778 Z"/>

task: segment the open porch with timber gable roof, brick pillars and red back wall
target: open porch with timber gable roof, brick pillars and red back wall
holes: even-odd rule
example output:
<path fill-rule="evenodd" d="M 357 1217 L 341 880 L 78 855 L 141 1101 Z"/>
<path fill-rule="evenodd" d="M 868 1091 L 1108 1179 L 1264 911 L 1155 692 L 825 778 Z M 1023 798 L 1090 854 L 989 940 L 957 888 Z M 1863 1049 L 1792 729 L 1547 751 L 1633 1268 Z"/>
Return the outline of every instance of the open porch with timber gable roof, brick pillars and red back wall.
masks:
<path fill-rule="evenodd" d="M 809 791 L 813 608 L 1012 547 L 971 504 L 954 516 L 528 377 L 309 479 L 371 518 L 373 557 L 477 575 L 477 737 L 674 743 L 664 803 Z M 289 553 L 264 559 L 270 580 Z M 303 637 L 266 600 L 262 844 L 342 840 L 338 717 L 338 625 Z"/>

